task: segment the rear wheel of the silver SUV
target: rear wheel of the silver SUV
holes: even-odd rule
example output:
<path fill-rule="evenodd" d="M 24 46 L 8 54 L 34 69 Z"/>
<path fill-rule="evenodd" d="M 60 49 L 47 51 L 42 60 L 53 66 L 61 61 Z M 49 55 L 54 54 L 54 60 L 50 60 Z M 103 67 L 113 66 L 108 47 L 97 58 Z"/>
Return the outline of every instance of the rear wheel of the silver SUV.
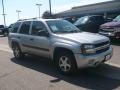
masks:
<path fill-rule="evenodd" d="M 24 54 L 22 53 L 18 44 L 13 45 L 13 54 L 16 59 L 23 59 Z"/>

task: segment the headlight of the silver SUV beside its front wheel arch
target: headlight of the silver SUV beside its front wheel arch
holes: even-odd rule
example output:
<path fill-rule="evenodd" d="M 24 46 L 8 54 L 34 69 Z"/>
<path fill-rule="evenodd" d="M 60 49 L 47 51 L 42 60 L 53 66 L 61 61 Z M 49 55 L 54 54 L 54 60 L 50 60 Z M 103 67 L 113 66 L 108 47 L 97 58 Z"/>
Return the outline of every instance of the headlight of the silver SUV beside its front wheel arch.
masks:
<path fill-rule="evenodd" d="M 83 54 L 93 54 L 95 53 L 94 45 L 86 44 L 82 45 L 82 53 Z"/>

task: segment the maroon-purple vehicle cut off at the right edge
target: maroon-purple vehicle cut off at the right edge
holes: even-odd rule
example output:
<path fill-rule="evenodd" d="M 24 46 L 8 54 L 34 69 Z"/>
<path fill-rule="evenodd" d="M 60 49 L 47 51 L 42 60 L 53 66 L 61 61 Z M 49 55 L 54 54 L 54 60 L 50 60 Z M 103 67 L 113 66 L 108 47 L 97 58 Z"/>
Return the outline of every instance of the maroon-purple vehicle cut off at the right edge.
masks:
<path fill-rule="evenodd" d="M 108 36 L 110 38 L 120 38 L 120 15 L 118 15 L 113 21 L 102 24 L 100 26 L 100 34 Z"/>

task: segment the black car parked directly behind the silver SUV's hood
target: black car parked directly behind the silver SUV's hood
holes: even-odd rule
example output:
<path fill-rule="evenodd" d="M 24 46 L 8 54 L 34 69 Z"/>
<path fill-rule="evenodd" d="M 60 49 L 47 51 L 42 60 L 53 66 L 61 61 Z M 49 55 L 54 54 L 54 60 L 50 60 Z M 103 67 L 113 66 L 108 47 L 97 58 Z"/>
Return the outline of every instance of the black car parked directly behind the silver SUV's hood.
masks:
<path fill-rule="evenodd" d="M 99 26 L 105 23 L 105 19 L 101 15 L 90 15 L 79 18 L 74 25 L 80 30 L 92 33 L 99 32 Z"/>

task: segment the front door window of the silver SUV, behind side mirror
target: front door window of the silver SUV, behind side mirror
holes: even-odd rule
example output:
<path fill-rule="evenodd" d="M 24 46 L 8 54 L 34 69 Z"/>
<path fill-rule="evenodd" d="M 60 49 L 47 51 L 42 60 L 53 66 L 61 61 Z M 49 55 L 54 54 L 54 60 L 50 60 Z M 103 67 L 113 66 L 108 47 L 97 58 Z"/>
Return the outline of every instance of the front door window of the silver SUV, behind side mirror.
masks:
<path fill-rule="evenodd" d="M 38 35 L 38 31 L 46 30 L 45 25 L 40 21 L 34 21 L 32 25 L 32 35 Z"/>

